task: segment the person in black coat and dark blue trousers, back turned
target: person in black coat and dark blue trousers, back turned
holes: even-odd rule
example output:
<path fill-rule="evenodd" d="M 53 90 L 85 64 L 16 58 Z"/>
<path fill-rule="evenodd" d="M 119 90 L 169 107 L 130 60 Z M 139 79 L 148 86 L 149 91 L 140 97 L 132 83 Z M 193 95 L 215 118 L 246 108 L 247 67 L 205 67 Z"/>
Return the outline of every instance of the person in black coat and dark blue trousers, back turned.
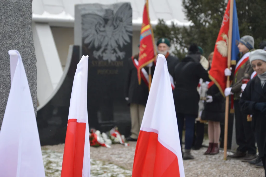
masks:
<path fill-rule="evenodd" d="M 198 50 L 197 45 L 195 49 Z M 191 57 L 185 57 L 174 68 L 173 78 L 175 82 L 175 89 L 173 93 L 174 106 L 176 109 L 181 147 L 184 123 L 186 126 L 185 153 L 183 155 L 183 159 L 193 159 L 194 157 L 190 154 L 190 150 L 194 137 L 195 119 L 198 117 L 198 103 L 200 101 L 197 86 L 200 78 L 210 81 L 209 74 L 208 71 L 202 67 L 200 62 L 193 60 Z"/>

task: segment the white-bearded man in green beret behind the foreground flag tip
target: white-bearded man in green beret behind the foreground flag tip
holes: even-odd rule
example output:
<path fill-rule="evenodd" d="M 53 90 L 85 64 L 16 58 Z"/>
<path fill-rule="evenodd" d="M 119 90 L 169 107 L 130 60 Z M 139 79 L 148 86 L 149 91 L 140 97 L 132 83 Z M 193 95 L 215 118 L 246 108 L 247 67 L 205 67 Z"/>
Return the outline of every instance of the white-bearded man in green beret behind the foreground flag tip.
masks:
<path fill-rule="evenodd" d="M 167 68 L 169 71 L 170 81 L 171 81 L 171 85 L 172 85 L 172 90 L 174 90 L 174 80 L 173 80 L 174 67 L 177 65 L 179 60 L 177 57 L 174 57 L 174 56 L 169 54 L 170 46 L 171 46 L 170 40 L 167 38 L 161 38 L 157 41 L 158 53 L 163 54 L 166 58 Z"/>

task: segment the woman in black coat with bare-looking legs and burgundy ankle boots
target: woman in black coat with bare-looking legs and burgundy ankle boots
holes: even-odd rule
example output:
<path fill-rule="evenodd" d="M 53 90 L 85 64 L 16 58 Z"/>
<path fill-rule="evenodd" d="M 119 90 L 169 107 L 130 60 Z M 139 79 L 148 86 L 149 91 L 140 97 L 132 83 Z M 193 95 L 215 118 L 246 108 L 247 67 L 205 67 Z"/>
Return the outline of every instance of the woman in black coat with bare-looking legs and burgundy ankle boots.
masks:
<path fill-rule="evenodd" d="M 210 66 L 213 59 L 213 52 L 208 57 Z M 207 99 L 204 102 L 204 110 L 201 114 L 202 120 L 208 121 L 209 147 L 206 154 L 219 153 L 219 139 L 221 135 L 220 122 L 225 119 L 225 98 L 214 82 L 208 84 Z"/>

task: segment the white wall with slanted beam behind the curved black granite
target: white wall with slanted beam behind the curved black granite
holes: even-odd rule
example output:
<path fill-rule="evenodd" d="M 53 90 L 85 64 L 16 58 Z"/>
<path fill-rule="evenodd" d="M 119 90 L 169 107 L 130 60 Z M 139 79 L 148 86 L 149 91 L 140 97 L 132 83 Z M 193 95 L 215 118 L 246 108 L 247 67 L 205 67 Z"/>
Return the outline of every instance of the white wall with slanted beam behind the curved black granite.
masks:
<path fill-rule="evenodd" d="M 63 74 L 49 24 L 32 23 L 37 58 L 37 100 L 41 105 L 52 94 Z"/>

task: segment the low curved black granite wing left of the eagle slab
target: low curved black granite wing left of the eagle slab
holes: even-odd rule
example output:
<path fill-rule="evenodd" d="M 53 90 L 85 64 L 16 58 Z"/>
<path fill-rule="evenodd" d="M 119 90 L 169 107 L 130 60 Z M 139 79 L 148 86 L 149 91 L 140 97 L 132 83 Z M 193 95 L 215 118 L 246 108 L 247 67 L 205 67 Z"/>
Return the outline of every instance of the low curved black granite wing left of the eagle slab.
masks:
<path fill-rule="evenodd" d="M 43 107 L 37 109 L 41 145 L 65 142 L 68 112 L 74 75 L 80 61 L 80 47 L 70 46 L 64 74 Z"/>

